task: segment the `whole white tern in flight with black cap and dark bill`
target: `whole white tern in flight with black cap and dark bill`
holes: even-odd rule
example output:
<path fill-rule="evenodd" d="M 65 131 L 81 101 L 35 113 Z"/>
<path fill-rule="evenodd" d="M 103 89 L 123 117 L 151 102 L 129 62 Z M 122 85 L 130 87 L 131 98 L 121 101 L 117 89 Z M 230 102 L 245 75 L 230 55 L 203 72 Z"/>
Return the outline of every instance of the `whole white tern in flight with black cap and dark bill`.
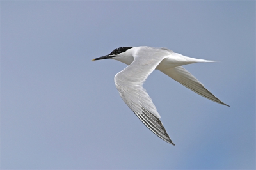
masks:
<path fill-rule="evenodd" d="M 186 88 L 195 91 L 218 104 L 227 105 L 215 97 L 204 85 L 189 73 L 182 65 L 191 63 L 215 62 L 189 58 L 166 48 L 154 47 L 119 47 L 100 59 L 115 59 L 129 66 L 115 75 L 116 88 L 125 104 L 158 137 L 175 145 L 167 134 L 156 106 L 143 88 L 143 82 L 154 70 L 160 70 Z M 229 106 L 229 105 L 227 105 Z"/>

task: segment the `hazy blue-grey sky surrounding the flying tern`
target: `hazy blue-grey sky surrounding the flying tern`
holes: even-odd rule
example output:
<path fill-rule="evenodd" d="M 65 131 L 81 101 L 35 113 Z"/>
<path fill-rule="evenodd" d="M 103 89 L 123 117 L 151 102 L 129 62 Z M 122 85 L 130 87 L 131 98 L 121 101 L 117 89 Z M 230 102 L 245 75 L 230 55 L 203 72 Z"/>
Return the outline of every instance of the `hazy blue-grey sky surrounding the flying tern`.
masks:
<path fill-rule="evenodd" d="M 157 70 L 154 135 L 91 61 L 144 45 L 221 61 L 184 67 L 230 107 Z M 1 169 L 255 169 L 255 1 L 1 1 Z"/>

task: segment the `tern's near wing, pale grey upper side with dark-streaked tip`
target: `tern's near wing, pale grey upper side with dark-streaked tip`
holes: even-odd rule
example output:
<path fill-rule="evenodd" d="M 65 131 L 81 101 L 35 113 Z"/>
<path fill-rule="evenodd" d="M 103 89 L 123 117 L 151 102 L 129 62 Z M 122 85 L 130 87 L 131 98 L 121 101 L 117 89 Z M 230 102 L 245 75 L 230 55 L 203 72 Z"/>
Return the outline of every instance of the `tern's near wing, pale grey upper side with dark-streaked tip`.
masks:
<path fill-rule="evenodd" d="M 115 84 L 125 104 L 138 118 L 158 137 L 173 144 L 163 124 L 159 120 L 152 99 L 143 88 L 143 82 L 156 66 L 168 56 L 168 52 L 150 47 L 138 49 L 134 54 L 134 61 L 124 70 L 115 75 Z M 174 145 L 174 144 L 173 144 Z"/>

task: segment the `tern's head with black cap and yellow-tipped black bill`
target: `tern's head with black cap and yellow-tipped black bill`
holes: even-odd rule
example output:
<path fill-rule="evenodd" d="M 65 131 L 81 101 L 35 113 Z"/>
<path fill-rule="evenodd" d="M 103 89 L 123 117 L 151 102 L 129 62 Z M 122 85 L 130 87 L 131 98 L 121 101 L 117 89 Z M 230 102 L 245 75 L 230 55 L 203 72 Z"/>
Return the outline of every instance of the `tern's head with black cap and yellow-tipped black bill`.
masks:
<path fill-rule="evenodd" d="M 111 58 L 121 61 L 122 63 L 125 63 L 127 65 L 130 65 L 133 61 L 133 56 L 131 50 L 129 49 L 132 48 L 133 47 L 119 47 L 117 49 L 114 49 L 110 54 L 102 56 L 100 58 L 92 59 L 92 61 Z"/>

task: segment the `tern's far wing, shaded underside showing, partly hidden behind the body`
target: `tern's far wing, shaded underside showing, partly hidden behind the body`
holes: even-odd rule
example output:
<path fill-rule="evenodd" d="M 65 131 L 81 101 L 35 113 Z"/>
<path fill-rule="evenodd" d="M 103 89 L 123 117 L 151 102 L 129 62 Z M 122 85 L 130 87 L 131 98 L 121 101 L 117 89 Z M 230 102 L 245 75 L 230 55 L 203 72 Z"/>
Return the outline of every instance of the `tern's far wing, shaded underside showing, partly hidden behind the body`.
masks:
<path fill-rule="evenodd" d="M 161 70 L 161 72 L 165 73 L 166 75 L 179 82 L 180 84 L 186 86 L 187 88 L 191 89 L 192 91 L 195 91 L 195 93 L 198 93 L 199 95 L 219 104 L 227 105 L 221 102 L 220 99 L 212 95 L 212 93 L 204 87 L 204 84 L 198 81 L 196 77 L 194 77 L 191 73 L 188 72 L 188 70 L 186 70 L 182 66 L 168 68 L 166 70 Z"/>

